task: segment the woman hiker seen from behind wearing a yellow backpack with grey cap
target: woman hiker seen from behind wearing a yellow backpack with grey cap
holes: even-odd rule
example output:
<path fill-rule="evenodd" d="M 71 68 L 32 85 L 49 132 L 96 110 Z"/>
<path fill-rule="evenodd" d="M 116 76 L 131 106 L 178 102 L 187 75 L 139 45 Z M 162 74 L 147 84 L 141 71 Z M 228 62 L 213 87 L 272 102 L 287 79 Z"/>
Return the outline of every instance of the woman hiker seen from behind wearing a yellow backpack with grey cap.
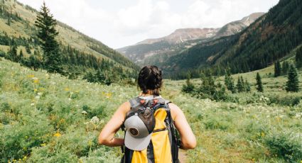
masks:
<path fill-rule="evenodd" d="M 183 111 L 161 97 L 158 67 L 143 67 L 138 84 L 141 94 L 119 106 L 99 134 L 99 144 L 122 146 L 122 162 L 179 162 L 178 147 L 190 150 L 196 146 Z M 114 137 L 119 128 L 125 131 L 124 139 Z"/>

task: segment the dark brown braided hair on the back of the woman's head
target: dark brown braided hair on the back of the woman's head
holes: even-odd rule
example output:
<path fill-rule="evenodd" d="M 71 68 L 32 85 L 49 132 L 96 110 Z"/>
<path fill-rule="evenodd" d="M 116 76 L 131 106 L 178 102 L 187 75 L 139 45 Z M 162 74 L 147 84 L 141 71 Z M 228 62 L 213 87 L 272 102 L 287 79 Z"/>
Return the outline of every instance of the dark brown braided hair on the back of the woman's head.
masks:
<path fill-rule="evenodd" d="M 159 91 L 161 91 L 163 85 L 161 69 L 156 66 L 143 67 L 139 72 L 137 84 L 144 94 L 149 90 L 152 91 L 153 96 L 159 96 Z"/>

